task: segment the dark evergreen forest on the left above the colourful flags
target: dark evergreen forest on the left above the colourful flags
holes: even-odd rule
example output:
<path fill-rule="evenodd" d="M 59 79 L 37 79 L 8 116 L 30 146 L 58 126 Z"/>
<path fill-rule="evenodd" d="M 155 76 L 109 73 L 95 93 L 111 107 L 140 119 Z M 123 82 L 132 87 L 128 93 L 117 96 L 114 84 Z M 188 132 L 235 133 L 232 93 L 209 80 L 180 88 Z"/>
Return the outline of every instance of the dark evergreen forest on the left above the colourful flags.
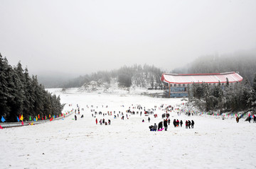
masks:
<path fill-rule="evenodd" d="M 21 62 L 12 67 L 0 54 L 0 117 L 17 122 L 17 117 L 23 115 L 23 120 L 28 121 L 38 115 L 60 115 L 62 110 L 59 96 L 48 93 L 36 76 L 29 76 Z"/>

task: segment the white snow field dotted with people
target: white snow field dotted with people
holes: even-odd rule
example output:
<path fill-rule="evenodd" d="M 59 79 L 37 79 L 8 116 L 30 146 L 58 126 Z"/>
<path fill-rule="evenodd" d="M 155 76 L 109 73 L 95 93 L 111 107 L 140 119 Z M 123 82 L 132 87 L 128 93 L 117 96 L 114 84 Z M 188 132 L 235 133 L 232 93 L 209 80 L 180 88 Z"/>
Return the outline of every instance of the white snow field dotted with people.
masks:
<path fill-rule="evenodd" d="M 255 123 L 237 123 L 231 117 L 187 117 L 175 111 L 167 132 L 150 132 L 149 125 L 162 120 L 164 111 L 159 106 L 177 107 L 181 99 L 49 91 L 67 103 L 63 112 L 77 109 L 78 104 L 78 120 L 70 115 L 65 120 L 0 129 L 0 168 L 256 168 Z M 156 105 L 158 117 L 149 115 L 148 122 L 144 114 L 128 114 L 127 119 L 125 110 L 132 104 L 146 109 Z M 105 118 L 111 124 L 95 124 L 91 109 L 112 111 L 105 117 L 96 115 L 98 122 Z M 124 120 L 114 119 L 114 111 L 115 115 L 124 112 Z M 174 127 L 174 119 L 194 120 L 195 127 Z"/>

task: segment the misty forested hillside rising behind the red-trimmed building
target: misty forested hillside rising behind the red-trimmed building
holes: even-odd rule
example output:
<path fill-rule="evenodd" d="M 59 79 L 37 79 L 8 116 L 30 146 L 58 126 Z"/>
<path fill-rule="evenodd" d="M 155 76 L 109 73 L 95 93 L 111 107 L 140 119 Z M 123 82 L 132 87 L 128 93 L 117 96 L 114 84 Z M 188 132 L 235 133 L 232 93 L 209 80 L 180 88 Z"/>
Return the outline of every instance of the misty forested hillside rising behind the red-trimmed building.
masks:
<path fill-rule="evenodd" d="M 256 52 L 238 54 L 226 54 L 223 56 L 199 57 L 191 64 L 174 69 L 176 74 L 214 74 L 229 71 L 237 71 L 242 78 L 247 78 L 252 86 L 256 73 Z"/>

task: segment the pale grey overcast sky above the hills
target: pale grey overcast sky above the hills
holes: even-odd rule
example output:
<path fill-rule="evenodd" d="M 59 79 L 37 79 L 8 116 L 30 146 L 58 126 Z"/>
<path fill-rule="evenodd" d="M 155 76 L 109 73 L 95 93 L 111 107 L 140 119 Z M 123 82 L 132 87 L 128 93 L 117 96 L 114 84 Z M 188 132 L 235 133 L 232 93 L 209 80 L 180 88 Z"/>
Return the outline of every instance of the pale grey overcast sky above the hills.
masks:
<path fill-rule="evenodd" d="M 1 0 L 0 52 L 31 74 L 171 70 L 256 47 L 256 1 Z"/>

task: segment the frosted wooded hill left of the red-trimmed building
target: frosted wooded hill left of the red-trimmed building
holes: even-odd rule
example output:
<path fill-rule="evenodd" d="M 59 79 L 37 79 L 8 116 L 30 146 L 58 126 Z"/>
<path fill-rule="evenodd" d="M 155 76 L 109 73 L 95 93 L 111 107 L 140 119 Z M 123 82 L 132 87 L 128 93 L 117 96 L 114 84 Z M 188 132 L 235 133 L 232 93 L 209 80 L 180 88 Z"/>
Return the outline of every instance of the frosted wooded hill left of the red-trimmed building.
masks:
<path fill-rule="evenodd" d="M 107 84 L 114 81 L 114 83 L 118 83 L 119 88 L 139 87 L 161 89 L 162 84 L 160 78 L 162 73 L 155 66 L 134 64 L 134 66 L 122 66 L 117 70 L 98 71 L 95 74 L 80 76 L 63 87 L 90 86 L 91 84 L 97 88 L 97 86 L 100 87 L 104 84 L 107 89 Z"/>

